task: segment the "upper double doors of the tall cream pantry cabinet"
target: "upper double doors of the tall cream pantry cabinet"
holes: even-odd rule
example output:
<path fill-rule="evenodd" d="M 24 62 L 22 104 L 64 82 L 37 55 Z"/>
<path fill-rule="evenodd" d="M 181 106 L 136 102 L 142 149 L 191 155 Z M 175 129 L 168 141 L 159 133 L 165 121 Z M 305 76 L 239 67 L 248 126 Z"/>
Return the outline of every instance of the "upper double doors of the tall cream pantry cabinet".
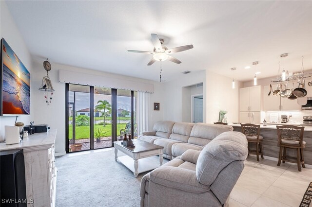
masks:
<path fill-rule="evenodd" d="M 239 111 L 261 111 L 263 107 L 262 102 L 262 86 L 239 89 Z"/>

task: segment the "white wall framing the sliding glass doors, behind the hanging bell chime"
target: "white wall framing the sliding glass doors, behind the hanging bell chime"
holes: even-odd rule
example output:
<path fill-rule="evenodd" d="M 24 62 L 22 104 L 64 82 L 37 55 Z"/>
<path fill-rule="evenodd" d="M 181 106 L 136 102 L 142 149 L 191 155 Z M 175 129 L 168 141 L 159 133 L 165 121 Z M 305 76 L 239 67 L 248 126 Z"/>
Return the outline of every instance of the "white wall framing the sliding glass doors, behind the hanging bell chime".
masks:
<path fill-rule="evenodd" d="M 55 151 L 57 155 L 65 154 L 65 84 L 59 83 L 59 69 L 77 71 L 81 73 L 88 73 L 103 77 L 112 77 L 123 80 L 131 80 L 142 83 L 155 84 L 155 92 L 151 95 L 151 104 L 154 102 L 162 103 L 161 93 L 164 90 L 163 84 L 156 83 L 154 81 L 139 79 L 134 77 L 122 76 L 113 73 L 101 72 L 98 70 L 89 70 L 82 69 L 77 67 L 60 65 L 57 63 L 53 63 L 50 60 L 52 65 L 51 71 L 49 71 L 49 77 L 51 79 L 52 85 L 55 89 L 53 94 L 52 103 L 47 105 L 44 100 L 44 92 L 39 91 L 38 88 L 41 85 L 42 77 L 45 76 L 46 71 L 43 69 L 42 62 L 34 62 L 34 73 L 36 73 L 33 78 L 33 85 L 36 86 L 36 90 L 33 92 L 33 98 L 36 100 L 34 106 L 36 111 L 34 113 L 34 121 L 36 124 L 47 123 L 49 124 L 51 129 L 58 129 L 56 143 L 55 143 Z M 163 110 L 162 104 L 160 104 L 160 111 L 152 111 L 151 114 L 152 126 L 156 121 L 163 120 Z"/>

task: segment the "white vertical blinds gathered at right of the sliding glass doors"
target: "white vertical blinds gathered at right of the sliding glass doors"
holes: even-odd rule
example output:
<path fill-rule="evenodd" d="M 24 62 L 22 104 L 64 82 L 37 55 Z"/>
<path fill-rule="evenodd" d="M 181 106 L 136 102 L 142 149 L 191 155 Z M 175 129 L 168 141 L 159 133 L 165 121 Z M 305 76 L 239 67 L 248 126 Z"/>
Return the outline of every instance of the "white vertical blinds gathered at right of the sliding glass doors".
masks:
<path fill-rule="evenodd" d="M 138 135 L 150 131 L 151 127 L 151 94 L 137 91 L 137 131 Z"/>

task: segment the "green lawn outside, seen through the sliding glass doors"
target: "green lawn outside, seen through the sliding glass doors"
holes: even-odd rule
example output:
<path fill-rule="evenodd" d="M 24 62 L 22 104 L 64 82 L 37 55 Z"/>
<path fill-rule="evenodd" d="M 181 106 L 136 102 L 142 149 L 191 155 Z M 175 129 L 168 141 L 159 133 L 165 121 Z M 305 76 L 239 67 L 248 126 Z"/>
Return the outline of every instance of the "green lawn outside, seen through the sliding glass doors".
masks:
<path fill-rule="evenodd" d="M 117 135 L 119 135 L 120 129 L 124 129 L 126 124 L 117 124 Z M 104 132 L 107 132 L 105 137 L 112 136 L 112 125 L 107 124 L 105 127 L 102 125 L 95 125 L 94 131 L 97 131 L 98 128 L 104 129 Z M 69 139 L 73 138 L 73 126 L 69 125 Z M 76 139 L 90 138 L 90 126 L 76 126 Z"/>

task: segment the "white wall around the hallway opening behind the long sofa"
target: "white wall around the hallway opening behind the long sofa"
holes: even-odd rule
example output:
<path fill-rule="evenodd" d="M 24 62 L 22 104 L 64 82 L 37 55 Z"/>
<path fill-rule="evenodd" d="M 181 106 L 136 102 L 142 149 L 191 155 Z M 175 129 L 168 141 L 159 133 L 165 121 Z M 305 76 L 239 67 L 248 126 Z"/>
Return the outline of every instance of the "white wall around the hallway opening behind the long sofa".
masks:
<path fill-rule="evenodd" d="M 182 89 L 185 86 L 192 86 L 198 83 L 203 83 L 206 86 L 206 71 L 196 71 L 188 74 L 177 74 L 176 79 L 165 84 L 166 90 L 163 91 L 163 102 L 164 102 L 164 120 L 170 121 L 184 121 L 182 119 L 183 109 L 182 109 Z M 205 89 L 203 89 L 205 90 Z M 206 94 L 203 91 L 203 104 L 205 104 Z M 204 122 L 205 122 L 205 111 L 204 108 Z"/>

